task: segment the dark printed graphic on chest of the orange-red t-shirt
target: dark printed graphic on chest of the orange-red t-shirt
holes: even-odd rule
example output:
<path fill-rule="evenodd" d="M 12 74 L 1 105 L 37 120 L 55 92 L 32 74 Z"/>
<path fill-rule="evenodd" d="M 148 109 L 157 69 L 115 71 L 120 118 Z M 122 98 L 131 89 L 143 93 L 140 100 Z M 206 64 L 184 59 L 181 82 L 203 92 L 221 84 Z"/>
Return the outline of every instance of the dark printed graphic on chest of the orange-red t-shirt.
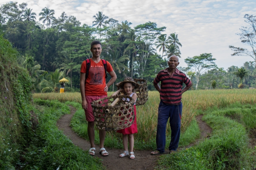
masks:
<path fill-rule="evenodd" d="M 90 67 L 91 85 L 102 85 L 104 67 Z"/>

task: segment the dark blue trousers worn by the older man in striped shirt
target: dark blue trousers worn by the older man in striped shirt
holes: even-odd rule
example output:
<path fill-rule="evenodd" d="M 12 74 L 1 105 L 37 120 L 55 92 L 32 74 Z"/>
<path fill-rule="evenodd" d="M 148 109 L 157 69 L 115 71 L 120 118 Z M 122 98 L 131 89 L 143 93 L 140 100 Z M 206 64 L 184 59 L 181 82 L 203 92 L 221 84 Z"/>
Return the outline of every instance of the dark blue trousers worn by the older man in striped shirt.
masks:
<path fill-rule="evenodd" d="M 180 105 L 166 105 L 162 100 L 158 107 L 157 131 L 156 131 L 156 150 L 160 153 L 165 148 L 165 130 L 166 124 L 170 117 L 171 126 L 171 142 L 169 151 L 176 151 L 180 140 L 180 124 L 181 124 L 182 103 Z"/>

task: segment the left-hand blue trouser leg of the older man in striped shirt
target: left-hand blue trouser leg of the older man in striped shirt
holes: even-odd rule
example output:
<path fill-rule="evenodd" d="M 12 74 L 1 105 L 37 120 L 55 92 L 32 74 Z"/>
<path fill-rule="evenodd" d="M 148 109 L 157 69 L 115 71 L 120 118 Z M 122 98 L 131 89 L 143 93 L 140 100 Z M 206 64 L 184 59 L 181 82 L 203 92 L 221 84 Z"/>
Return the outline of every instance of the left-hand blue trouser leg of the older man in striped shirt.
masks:
<path fill-rule="evenodd" d="M 165 148 L 165 130 L 169 118 L 169 105 L 160 101 L 158 107 L 157 130 L 156 130 L 156 150 L 160 153 L 164 152 Z"/>

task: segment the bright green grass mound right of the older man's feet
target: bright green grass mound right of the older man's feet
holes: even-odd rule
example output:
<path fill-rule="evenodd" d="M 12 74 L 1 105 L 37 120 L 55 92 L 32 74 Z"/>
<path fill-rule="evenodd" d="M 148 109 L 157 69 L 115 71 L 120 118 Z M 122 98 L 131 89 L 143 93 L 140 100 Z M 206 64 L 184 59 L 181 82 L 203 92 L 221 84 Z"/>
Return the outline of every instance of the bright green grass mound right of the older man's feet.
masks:
<path fill-rule="evenodd" d="M 256 126 L 255 109 L 255 105 L 234 103 L 204 111 L 202 119 L 212 128 L 212 136 L 194 147 L 162 156 L 157 169 L 256 168 L 256 150 L 248 147 L 248 132 Z"/>

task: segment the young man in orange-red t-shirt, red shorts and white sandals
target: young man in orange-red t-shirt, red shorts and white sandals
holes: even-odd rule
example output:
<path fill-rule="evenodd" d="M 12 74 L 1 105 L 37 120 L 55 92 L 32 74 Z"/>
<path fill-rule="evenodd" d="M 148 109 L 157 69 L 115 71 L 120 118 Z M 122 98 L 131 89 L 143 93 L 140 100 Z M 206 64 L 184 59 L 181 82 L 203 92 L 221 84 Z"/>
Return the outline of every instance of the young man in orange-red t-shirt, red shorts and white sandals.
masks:
<path fill-rule="evenodd" d="M 88 137 L 91 143 L 90 155 L 95 154 L 94 144 L 94 115 L 92 112 L 91 102 L 93 100 L 102 99 L 107 97 L 108 87 L 116 81 L 116 73 L 114 72 L 111 64 L 106 61 L 107 71 L 111 76 L 111 79 L 106 84 L 105 69 L 100 59 L 102 48 L 100 41 L 92 41 L 91 52 L 92 58 L 90 58 L 89 74 L 85 82 L 86 75 L 86 61 L 81 65 L 80 71 L 80 92 L 82 96 L 82 107 L 85 112 L 86 121 L 88 121 Z M 108 152 L 104 148 L 104 140 L 106 137 L 105 130 L 99 130 L 100 136 L 100 153 L 102 156 L 107 156 Z"/>

